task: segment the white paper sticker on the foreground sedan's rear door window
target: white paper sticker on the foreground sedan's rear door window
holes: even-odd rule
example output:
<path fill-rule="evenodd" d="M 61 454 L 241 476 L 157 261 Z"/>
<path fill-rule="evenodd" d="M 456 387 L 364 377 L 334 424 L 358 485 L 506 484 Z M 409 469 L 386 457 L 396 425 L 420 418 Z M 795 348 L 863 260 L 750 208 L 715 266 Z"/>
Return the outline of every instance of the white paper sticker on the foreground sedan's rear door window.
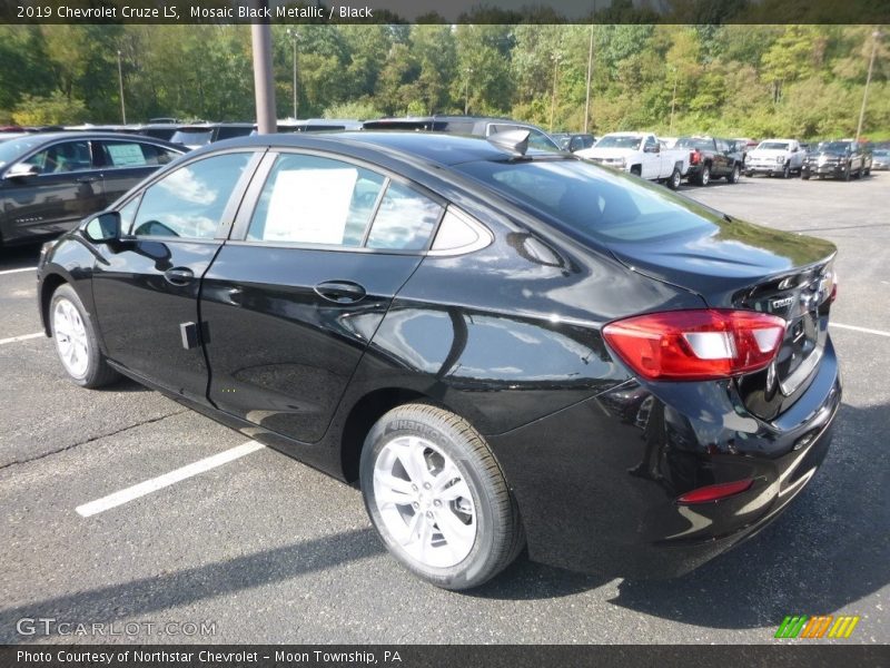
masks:
<path fill-rule="evenodd" d="M 342 244 L 357 178 L 355 168 L 278 173 L 264 239 Z"/>

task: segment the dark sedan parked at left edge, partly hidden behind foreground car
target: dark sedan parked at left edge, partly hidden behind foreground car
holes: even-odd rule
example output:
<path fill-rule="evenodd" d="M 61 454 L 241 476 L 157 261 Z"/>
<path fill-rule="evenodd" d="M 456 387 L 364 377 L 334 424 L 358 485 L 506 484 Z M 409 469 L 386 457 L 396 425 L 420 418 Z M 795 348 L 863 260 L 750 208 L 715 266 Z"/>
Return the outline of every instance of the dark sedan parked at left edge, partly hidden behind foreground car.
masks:
<path fill-rule="evenodd" d="M 0 144 L 0 245 L 71 229 L 185 149 L 112 132 L 50 132 Z"/>

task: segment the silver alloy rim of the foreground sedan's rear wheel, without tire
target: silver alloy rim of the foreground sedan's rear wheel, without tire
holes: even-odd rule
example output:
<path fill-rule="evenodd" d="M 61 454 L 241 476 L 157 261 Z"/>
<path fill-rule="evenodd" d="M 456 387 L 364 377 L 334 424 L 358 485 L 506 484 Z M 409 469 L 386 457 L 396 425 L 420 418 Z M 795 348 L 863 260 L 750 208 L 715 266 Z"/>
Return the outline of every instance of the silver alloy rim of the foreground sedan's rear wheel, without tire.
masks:
<path fill-rule="evenodd" d="M 393 540 L 413 559 L 448 568 L 476 542 L 476 505 L 463 473 L 439 448 L 398 436 L 374 462 L 374 502 Z"/>

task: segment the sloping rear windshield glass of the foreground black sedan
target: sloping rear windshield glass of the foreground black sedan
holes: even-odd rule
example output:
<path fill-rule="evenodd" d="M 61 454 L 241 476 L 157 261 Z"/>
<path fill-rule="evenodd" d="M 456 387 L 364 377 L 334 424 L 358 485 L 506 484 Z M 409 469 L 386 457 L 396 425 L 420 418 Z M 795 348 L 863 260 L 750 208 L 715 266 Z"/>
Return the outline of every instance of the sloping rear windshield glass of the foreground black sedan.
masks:
<path fill-rule="evenodd" d="M 600 243 L 651 242 L 715 228 L 705 207 L 586 161 L 475 161 L 454 168 L 545 214 L 557 227 Z"/>

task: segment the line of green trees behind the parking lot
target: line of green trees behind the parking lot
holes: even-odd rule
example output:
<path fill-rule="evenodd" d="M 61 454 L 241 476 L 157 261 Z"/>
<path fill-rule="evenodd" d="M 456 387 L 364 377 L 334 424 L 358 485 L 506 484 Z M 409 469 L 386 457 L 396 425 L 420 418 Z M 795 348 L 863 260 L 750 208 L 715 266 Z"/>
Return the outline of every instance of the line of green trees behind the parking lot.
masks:
<path fill-rule="evenodd" d="M 595 134 L 890 137 L 870 26 L 273 26 L 279 117 L 463 112 Z M 883 31 L 887 33 L 887 30 Z M 0 26 L 0 124 L 254 120 L 248 26 Z"/>

